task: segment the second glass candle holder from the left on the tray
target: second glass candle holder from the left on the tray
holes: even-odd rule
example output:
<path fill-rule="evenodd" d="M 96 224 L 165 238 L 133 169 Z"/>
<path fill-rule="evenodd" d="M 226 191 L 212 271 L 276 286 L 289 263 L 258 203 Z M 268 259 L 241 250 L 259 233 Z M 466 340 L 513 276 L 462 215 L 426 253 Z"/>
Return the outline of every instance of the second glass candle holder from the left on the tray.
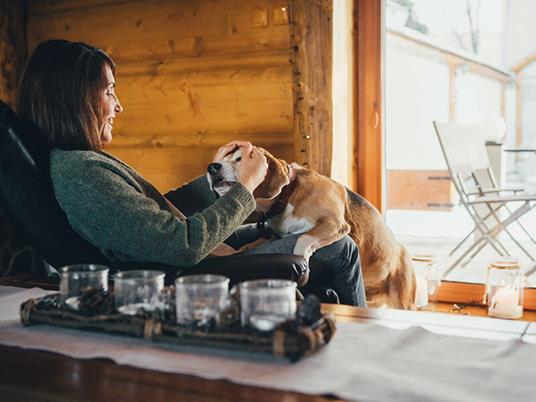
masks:
<path fill-rule="evenodd" d="M 115 308 L 127 315 L 136 315 L 141 309 L 152 311 L 160 306 L 158 296 L 163 288 L 162 271 L 119 272 L 114 277 Z"/>

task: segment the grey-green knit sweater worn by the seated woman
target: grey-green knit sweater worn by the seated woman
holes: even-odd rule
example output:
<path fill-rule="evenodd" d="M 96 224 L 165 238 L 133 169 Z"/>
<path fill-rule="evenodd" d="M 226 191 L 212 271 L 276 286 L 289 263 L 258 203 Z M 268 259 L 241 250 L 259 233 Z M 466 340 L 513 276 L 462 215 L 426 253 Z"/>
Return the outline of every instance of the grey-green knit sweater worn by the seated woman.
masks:
<path fill-rule="evenodd" d="M 216 200 L 201 176 L 177 191 L 204 208 L 185 218 L 134 169 L 104 152 L 55 149 L 50 174 L 73 229 L 111 260 L 190 267 L 255 209 L 242 184 Z"/>

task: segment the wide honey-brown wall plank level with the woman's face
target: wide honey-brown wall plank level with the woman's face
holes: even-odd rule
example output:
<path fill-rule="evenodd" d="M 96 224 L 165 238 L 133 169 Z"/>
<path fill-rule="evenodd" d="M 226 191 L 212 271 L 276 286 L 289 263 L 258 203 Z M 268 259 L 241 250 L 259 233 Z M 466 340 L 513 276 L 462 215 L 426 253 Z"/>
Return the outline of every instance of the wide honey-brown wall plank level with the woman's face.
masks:
<path fill-rule="evenodd" d="M 292 136 L 289 68 L 122 76 L 125 111 L 116 132 L 128 135 L 212 135 L 273 132 Z"/>

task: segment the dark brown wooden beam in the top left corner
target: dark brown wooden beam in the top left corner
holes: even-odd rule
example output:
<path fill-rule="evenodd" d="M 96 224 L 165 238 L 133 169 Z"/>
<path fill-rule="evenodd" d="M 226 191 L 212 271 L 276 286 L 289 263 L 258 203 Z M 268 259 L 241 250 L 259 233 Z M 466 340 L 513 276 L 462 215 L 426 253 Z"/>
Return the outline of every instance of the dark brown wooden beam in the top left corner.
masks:
<path fill-rule="evenodd" d="M 0 99 L 15 108 L 26 62 L 26 2 L 0 0 Z"/>

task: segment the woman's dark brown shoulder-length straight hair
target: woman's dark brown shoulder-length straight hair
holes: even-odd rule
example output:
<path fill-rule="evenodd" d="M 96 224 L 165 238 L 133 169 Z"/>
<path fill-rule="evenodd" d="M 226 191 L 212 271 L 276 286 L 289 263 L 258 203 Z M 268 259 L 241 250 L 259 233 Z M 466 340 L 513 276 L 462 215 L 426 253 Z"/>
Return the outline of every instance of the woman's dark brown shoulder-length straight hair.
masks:
<path fill-rule="evenodd" d="M 115 73 L 110 56 L 85 43 L 41 42 L 22 75 L 17 97 L 19 117 L 36 126 L 51 149 L 99 150 L 105 65 Z"/>

